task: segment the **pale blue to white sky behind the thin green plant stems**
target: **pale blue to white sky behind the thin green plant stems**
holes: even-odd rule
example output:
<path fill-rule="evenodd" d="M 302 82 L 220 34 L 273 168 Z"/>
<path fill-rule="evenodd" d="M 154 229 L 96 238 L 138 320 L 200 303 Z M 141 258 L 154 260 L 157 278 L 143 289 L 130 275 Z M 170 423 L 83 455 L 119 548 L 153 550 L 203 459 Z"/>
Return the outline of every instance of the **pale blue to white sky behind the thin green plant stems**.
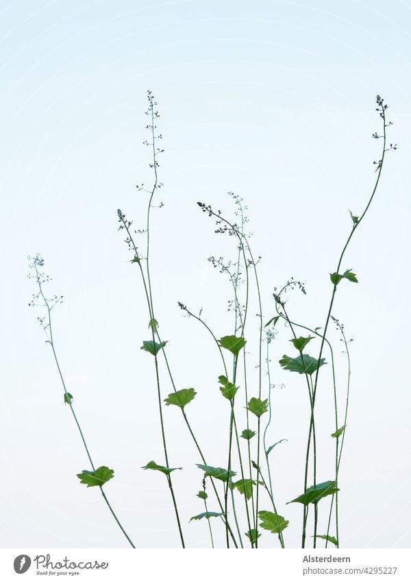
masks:
<path fill-rule="evenodd" d="M 273 315 L 273 287 L 294 276 L 308 291 L 290 300 L 295 317 L 321 326 L 348 208 L 359 214 L 373 186 L 375 95 L 390 105 L 399 149 L 345 259 L 360 284 L 342 284 L 334 310 L 355 338 L 340 539 L 410 546 L 410 19 L 401 0 L 0 1 L 2 546 L 124 545 L 98 492 L 77 484 L 86 458 L 27 307 L 26 257 L 36 252 L 51 293 L 65 297 L 54 312 L 56 348 L 94 457 L 116 470 L 110 499 L 136 546 L 178 546 L 164 480 L 140 470 L 162 462 L 160 435 L 151 361 L 139 349 L 148 339 L 140 281 L 116 223 L 120 207 L 143 226 L 135 185 L 151 179 L 142 146 L 149 88 L 166 150 L 165 206 L 153 226 L 158 319 L 178 382 L 199 393 L 193 424 L 214 465 L 225 458 L 210 428 L 227 420 L 221 370 L 177 301 L 203 306 L 217 335 L 230 332 L 229 289 L 206 259 L 229 258 L 233 247 L 195 203 L 231 213 L 227 191 L 241 195 L 262 256 L 264 315 Z M 290 351 L 287 340 L 283 330 L 274 364 Z M 301 380 L 274 368 L 286 387 L 275 393 L 271 434 L 288 439 L 275 457 L 285 476 L 278 505 L 290 520 L 286 542 L 297 546 L 301 509 L 285 503 L 301 493 L 308 407 Z M 318 405 L 328 443 L 327 396 Z M 206 524 L 188 525 L 202 511 L 199 459 L 177 412 L 166 409 L 171 465 L 184 465 L 175 487 L 188 545 L 202 547 Z M 332 478 L 330 447 L 323 481 Z M 262 545 L 272 543 L 264 535 Z"/>

